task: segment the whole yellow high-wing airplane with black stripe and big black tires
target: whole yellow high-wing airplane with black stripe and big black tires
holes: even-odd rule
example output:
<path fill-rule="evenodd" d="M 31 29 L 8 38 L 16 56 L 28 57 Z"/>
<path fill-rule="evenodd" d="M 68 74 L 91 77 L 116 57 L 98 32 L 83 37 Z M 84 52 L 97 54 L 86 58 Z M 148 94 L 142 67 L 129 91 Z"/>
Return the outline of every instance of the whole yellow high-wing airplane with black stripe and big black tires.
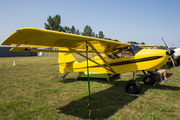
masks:
<path fill-rule="evenodd" d="M 167 50 L 145 49 L 135 44 L 38 28 L 16 30 L 2 45 L 15 46 L 11 51 L 58 52 L 60 73 L 92 72 L 108 75 L 143 71 L 143 82 L 150 85 L 156 82 L 155 77 L 145 71 L 162 67 L 169 58 Z M 77 62 L 72 53 L 87 60 Z M 88 54 L 92 53 L 97 56 L 89 58 Z M 125 89 L 131 94 L 141 92 L 141 86 L 136 80 L 128 81 Z"/>

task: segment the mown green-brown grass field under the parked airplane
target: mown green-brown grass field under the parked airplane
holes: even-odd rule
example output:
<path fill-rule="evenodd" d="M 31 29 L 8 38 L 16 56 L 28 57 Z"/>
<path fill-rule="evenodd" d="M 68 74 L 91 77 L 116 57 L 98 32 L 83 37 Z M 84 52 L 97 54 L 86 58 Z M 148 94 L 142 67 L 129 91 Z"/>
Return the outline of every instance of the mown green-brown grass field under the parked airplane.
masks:
<path fill-rule="evenodd" d="M 138 72 L 139 97 L 125 92 L 130 72 L 111 82 L 92 80 L 89 116 L 87 81 L 75 81 L 76 73 L 65 80 L 54 78 L 60 76 L 58 66 L 47 64 L 57 59 L 56 55 L 0 58 L 0 120 L 180 119 L 180 67 L 163 68 L 171 81 L 156 86 L 144 85 L 143 73 Z"/>

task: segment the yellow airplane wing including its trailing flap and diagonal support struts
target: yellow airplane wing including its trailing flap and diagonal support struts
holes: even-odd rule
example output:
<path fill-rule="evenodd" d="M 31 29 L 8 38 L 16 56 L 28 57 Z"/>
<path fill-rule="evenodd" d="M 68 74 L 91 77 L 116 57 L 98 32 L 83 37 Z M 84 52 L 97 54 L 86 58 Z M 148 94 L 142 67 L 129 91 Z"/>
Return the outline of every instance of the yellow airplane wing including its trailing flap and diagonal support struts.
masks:
<path fill-rule="evenodd" d="M 82 51 L 86 51 L 86 45 L 88 45 L 88 51 L 95 52 L 108 67 L 105 68 L 115 73 L 101 54 L 112 53 L 118 48 L 128 47 L 131 44 L 38 28 L 21 28 L 12 33 L 2 45 L 17 46 L 17 48 L 12 48 L 11 51 L 42 51 L 42 49 L 21 48 L 19 46 L 50 48 L 50 50 L 44 51 L 52 52 L 68 52 L 68 48 L 70 52 L 75 52 L 84 58 L 86 56 L 82 54 Z M 88 60 L 100 65 L 92 59 L 88 58 Z"/>

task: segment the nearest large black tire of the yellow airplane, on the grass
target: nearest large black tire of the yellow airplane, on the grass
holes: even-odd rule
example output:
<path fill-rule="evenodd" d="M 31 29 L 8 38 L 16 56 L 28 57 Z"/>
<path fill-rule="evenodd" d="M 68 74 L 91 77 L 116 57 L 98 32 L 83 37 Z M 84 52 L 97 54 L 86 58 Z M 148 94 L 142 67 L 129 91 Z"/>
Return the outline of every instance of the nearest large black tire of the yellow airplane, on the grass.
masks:
<path fill-rule="evenodd" d="M 141 85 L 136 80 L 129 80 L 126 83 L 125 90 L 127 93 L 130 93 L 130 94 L 139 94 L 141 93 Z"/>

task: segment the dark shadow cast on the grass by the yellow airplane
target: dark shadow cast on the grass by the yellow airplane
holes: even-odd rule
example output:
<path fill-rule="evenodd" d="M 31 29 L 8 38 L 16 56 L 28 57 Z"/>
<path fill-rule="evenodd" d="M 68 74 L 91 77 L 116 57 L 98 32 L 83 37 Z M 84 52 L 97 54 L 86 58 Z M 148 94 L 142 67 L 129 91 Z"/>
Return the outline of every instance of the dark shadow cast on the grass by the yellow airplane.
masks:
<path fill-rule="evenodd" d="M 172 74 L 168 74 L 171 76 Z M 137 76 L 136 79 L 140 82 L 143 75 Z M 68 80 L 69 81 L 69 80 Z M 142 81 L 142 80 L 141 80 Z M 95 82 L 92 81 L 91 82 Z M 72 115 L 79 117 L 81 119 L 107 119 L 110 116 L 114 115 L 119 109 L 122 109 L 128 103 L 136 100 L 137 96 L 128 95 L 125 92 L 125 85 L 127 81 L 96 81 L 106 84 L 113 84 L 112 87 L 91 94 L 91 116 L 89 116 L 88 109 L 86 109 L 87 104 L 89 103 L 89 96 L 83 97 L 81 99 L 71 101 L 69 104 L 57 108 L 58 113 L 63 113 L 66 115 Z M 156 86 L 144 85 L 141 84 L 143 95 L 148 89 L 162 89 L 162 90 L 180 90 L 180 87 L 173 87 L 167 85 L 157 84 Z M 100 111 L 96 111 L 100 109 Z"/>

